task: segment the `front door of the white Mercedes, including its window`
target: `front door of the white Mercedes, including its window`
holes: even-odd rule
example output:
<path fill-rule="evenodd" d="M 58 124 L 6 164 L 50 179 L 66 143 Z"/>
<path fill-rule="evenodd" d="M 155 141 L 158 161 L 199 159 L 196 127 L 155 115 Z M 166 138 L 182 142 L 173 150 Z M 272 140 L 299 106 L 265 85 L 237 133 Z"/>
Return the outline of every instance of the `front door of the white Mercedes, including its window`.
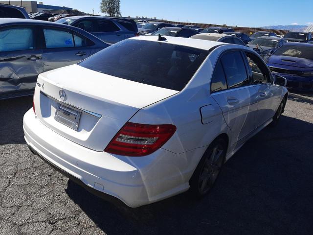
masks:
<path fill-rule="evenodd" d="M 250 52 L 245 54 L 253 87 L 257 93 L 257 121 L 258 125 L 262 125 L 274 116 L 280 102 L 281 87 L 271 84 L 270 72 L 262 59 Z"/>

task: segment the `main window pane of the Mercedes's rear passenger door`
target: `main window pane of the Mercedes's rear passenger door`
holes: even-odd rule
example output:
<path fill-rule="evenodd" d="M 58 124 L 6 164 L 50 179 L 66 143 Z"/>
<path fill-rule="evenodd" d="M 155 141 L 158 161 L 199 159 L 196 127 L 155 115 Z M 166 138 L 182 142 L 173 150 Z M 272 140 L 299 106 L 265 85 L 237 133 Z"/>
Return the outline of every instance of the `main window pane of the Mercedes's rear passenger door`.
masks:
<path fill-rule="evenodd" d="M 230 51 L 221 57 L 229 89 L 249 85 L 246 67 L 240 51 Z"/>

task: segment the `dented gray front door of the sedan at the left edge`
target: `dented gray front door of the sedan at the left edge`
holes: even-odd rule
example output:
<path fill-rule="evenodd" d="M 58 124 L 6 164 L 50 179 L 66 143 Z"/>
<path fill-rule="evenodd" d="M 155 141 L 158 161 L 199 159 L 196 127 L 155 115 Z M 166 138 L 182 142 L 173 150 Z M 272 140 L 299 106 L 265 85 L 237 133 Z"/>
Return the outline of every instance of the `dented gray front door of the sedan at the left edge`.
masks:
<path fill-rule="evenodd" d="M 36 33 L 35 27 L 26 25 L 0 29 L 0 98 L 33 92 L 43 72 Z"/>

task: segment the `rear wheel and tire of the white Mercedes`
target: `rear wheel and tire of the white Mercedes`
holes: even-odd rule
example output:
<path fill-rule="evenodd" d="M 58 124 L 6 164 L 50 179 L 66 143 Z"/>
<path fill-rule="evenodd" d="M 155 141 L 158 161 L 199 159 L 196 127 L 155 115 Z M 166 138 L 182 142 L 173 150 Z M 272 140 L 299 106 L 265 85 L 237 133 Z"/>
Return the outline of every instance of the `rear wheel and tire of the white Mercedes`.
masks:
<path fill-rule="evenodd" d="M 213 187 L 224 164 L 226 148 L 224 139 L 219 138 L 206 149 L 189 181 L 190 192 L 193 196 L 204 196 Z"/>

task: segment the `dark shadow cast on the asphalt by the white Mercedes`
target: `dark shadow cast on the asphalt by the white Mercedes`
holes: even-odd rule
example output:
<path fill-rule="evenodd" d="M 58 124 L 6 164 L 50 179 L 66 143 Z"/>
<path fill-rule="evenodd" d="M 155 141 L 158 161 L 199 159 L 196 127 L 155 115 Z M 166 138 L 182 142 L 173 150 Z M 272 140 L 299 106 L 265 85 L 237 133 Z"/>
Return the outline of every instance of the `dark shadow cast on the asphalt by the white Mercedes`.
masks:
<path fill-rule="evenodd" d="M 68 196 L 106 234 L 310 234 L 313 124 L 282 116 L 226 163 L 210 193 L 139 208 L 116 206 L 68 181 Z M 161 174 L 161 172 L 160 172 Z"/>

